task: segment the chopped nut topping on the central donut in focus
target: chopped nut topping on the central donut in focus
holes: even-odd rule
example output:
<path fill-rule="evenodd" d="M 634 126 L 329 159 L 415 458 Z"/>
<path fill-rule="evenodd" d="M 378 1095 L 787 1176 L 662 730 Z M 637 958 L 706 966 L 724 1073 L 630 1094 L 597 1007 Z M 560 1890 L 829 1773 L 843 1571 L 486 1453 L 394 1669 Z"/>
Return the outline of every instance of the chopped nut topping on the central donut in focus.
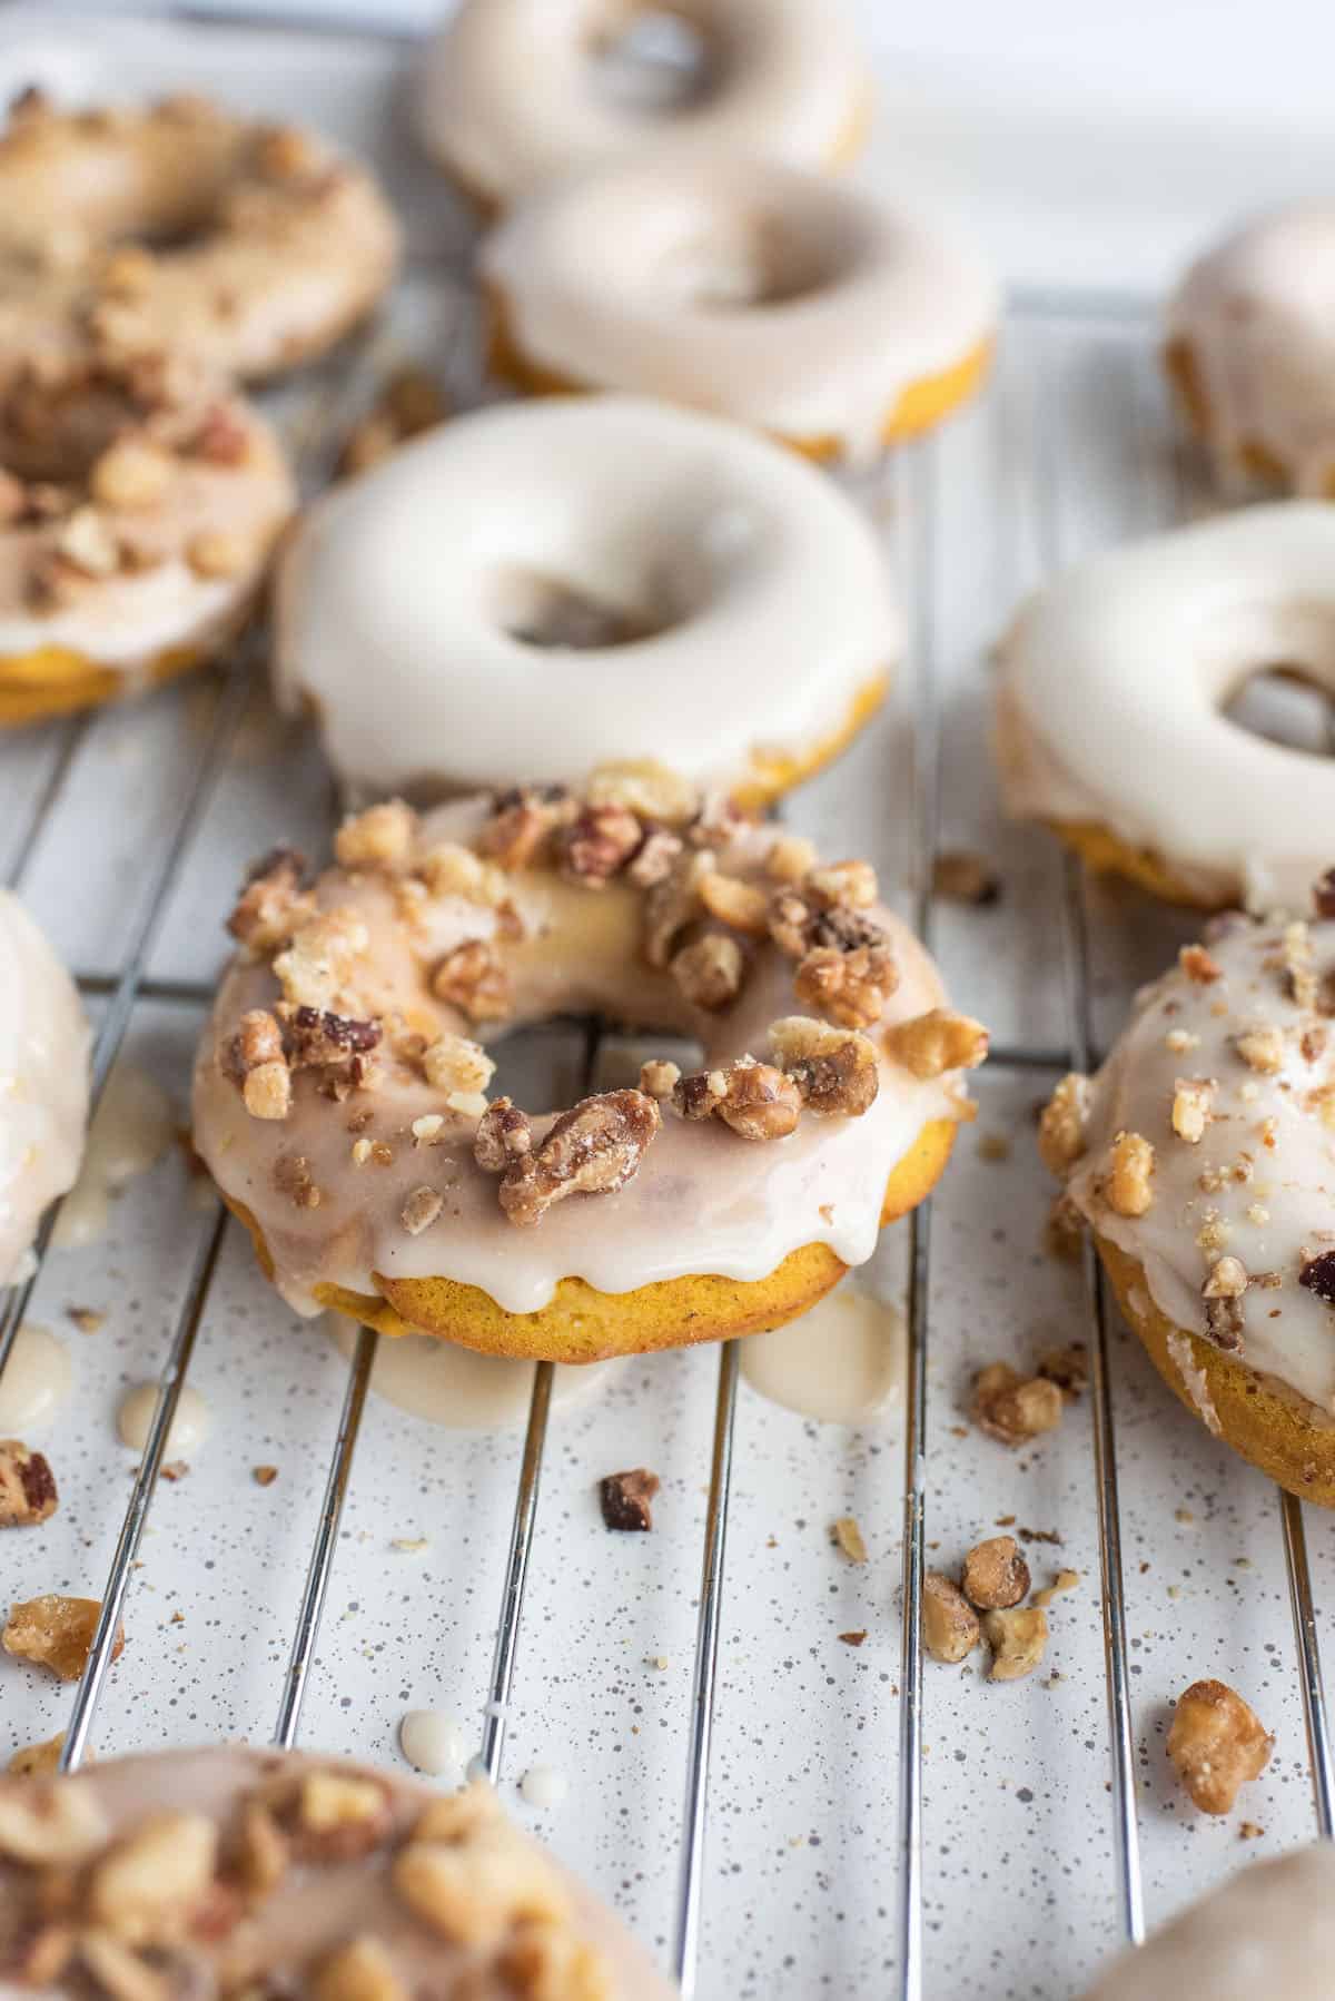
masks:
<path fill-rule="evenodd" d="M 356 1167 L 388 1165 L 406 1143 L 466 1147 L 450 1115 L 476 1121 L 476 1163 L 498 1177 L 508 1221 L 530 1227 L 566 1195 L 624 1187 L 662 1111 L 717 1119 L 747 1141 L 781 1141 L 805 1113 L 863 1117 L 883 1061 L 917 1079 L 981 1063 L 985 1031 L 949 1009 L 899 1023 L 877 1045 L 899 966 L 877 916 L 873 868 L 821 866 L 811 842 L 791 834 L 749 848 L 751 828 L 727 800 L 701 802 L 646 760 L 602 766 L 580 796 L 560 786 L 502 792 L 468 844 L 432 840 L 402 800 L 370 806 L 338 830 L 336 870 L 320 882 L 290 848 L 244 882 L 228 928 L 242 966 L 266 964 L 278 992 L 234 1021 L 218 1067 L 260 1121 L 290 1121 L 298 1091 L 310 1089 L 346 1107 Z M 494 1065 L 460 1033 L 514 1015 L 512 948 L 542 924 L 540 894 L 520 870 L 592 892 L 624 880 L 638 892 L 646 964 L 703 1015 L 731 1009 L 757 954 L 775 948 L 795 960 L 803 1013 L 771 1025 L 763 1057 L 739 1055 L 691 1077 L 648 1063 L 638 1091 L 588 1097 L 534 1133 L 510 1099 L 488 1101 Z M 376 898 L 392 922 L 388 948 L 372 942 Z M 434 1005 L 448 1011 L 444 1021 Z M 430 1021 L 440 1023 L 434 1035 Z M 386 1079 L 440 1093 L 410 1135 L 370 1131 Z M 298 1207 L 322 1201 L 306 1155 L 284 1151 L 274 1177 Z M 444 1209 L 430 1173 L 400 1201 L 408 1235 L 432 1229 Z"/>

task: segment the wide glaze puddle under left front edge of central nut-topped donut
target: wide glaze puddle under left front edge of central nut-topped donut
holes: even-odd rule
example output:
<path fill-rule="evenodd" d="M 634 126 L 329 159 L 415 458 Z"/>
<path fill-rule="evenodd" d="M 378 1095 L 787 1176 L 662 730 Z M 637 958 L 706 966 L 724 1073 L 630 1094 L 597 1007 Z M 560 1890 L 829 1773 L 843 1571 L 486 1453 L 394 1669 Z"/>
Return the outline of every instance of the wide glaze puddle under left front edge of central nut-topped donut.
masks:
<path fill-rule="evenodd" d="M 356 1321 L 340 1313 L 328 1315 L 328 1331 L 340 1355 L 356 1347 Z M 552 1379 L 552 1405 L 570 1407 L 600 1395 L 624 1363 L 594 1363 L 578 1369 L 558 1367 Z M 476 1355 L 432 1335 L 396 1335 L 376 1349 L 370 1387 L 386 1403 L 428 1425 L 448 1425 L 452 1431 L 500 1431 L 518 1425 L 528 1415 L 536 1363 L 510 1361 L 506 1355 Z"/>

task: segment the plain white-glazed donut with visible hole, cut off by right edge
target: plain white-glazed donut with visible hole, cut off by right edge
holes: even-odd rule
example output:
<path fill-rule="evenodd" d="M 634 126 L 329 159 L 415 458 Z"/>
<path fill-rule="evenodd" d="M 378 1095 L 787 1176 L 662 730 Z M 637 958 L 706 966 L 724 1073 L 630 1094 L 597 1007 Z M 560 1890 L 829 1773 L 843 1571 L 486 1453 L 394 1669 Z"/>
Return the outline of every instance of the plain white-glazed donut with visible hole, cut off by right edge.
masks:
<path fill-rule="evenodd" d="M 1221 710 L 1283 662 L 1335 688 L 1335 506 L 1277 500 L 1069 570 L 1001 644 L 1009 808 L 1095 868 L 1219 908 L 1303 906 L 1335 766 Z"/>

